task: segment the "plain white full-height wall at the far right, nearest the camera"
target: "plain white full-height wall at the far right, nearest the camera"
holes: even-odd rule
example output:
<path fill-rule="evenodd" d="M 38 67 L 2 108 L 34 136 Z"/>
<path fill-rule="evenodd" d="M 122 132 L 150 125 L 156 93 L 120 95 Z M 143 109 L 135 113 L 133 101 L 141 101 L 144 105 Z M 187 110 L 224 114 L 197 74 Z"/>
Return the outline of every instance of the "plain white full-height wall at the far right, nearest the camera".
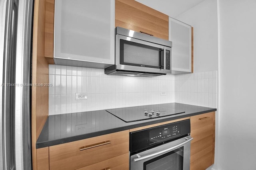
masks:
<path fill-rule="evenodd" d="M 256 0 L 218 0 L 218 170 L 256 169 Z"/>

